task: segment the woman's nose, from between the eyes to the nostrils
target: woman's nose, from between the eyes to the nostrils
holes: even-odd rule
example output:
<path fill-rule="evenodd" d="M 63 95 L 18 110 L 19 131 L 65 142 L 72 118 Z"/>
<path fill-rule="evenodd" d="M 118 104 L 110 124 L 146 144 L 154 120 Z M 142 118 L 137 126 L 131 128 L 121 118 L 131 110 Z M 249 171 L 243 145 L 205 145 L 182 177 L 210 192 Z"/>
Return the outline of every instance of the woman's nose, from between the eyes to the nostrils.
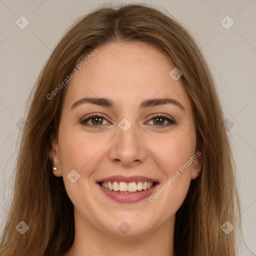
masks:
<path fill-rule="evenodd" d="M 126 131 L 116 126 L 116 130 L 110 147 L 110 160 L 125 167 L 143 162 L 148 149 L 136 125 L 132 124 Z"/>

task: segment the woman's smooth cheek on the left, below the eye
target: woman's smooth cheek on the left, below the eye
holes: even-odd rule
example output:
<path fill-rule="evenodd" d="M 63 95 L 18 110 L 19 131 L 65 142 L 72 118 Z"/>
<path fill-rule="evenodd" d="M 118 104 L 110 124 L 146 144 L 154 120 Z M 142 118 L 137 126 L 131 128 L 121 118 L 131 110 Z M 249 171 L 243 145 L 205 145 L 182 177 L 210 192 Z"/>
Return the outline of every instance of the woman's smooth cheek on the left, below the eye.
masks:
<path fill-rule="evenodd" d="M 59 130 L 59 156 L 62 165 L 62 176 L 68 197 L 77 205 L 94 205 L 95 198 L 91 195 L 90 177 L 99 164 L 100 150 L 106 141 L 102 138 L 89 136 L 75 129 Z M 68 177 L 75 170 L 75 182 Z M 76 176 L 78 177 L 76 179 Z M 80 206 L 79 206 L 80 207 Z M 83 208 L 83 206 L 81 206 Z M 87 209 L 83 209 L 84 212 Z M 88 211 L 88 210 L 87 210 Z M 89 211 L 88 211 L 89 214 Z"/>

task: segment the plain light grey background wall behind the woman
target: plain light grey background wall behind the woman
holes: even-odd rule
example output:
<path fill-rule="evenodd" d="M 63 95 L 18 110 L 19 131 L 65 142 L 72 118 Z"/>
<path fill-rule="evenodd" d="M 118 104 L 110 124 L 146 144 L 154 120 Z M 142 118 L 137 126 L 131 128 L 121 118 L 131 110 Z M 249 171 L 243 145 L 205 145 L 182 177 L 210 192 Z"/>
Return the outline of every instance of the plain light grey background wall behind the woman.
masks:
<path fill-rule="evenodd" d="M 225 118 L 230 120 L 245 239 L 245 244 L 240 242 L 240 255 L 255 255 L 256 0 L 144 2 L 165 8 L 177 18 L 206 56 Z M 100 0 L 0 0 L 1 228 L 8 214 L 16 144 L 20 136 L 16 123 L 24 117 L 28 94 L 42 65 L 71 22 L 102 3 Z M 29 21 L 24 29 L 15 24 L 21 15 Z M 226 15 L 234 21 L 229 29 L 220 23 Z M 240 241 L 239 236 L 237 239 Z"/>

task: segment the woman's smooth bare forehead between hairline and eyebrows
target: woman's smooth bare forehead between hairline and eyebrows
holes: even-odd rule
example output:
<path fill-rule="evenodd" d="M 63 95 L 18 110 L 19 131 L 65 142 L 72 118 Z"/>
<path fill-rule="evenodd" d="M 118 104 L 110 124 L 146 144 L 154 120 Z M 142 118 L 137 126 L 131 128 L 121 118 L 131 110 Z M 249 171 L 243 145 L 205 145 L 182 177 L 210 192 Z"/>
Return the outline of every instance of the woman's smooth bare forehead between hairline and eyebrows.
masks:
<path fill-rule="evenodd" d="M 181 80 L 169 75 L 174 65 L 158 48 L 143 42 L 115 42 L 97 50 L 82 58 L 90 55 L 67 85 L 68 105 L 85 96 L 108 97 L 117 105 L 166 96 L 189 103 Z"/>

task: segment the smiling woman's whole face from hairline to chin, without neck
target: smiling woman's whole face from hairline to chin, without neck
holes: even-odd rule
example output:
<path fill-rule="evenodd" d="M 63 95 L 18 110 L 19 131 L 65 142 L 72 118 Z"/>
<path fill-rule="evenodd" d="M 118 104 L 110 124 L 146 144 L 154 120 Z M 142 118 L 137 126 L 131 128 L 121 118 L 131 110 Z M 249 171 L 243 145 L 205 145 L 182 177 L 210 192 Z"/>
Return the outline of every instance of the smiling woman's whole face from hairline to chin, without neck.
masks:
<path fill-rule="evenodd" d="M 53 173 L 79 223 L 115 235 L 156 230 L 173 222 L 200 169 L 189 98 L 157 48 L 97 49 L 66 85 Z"/>

